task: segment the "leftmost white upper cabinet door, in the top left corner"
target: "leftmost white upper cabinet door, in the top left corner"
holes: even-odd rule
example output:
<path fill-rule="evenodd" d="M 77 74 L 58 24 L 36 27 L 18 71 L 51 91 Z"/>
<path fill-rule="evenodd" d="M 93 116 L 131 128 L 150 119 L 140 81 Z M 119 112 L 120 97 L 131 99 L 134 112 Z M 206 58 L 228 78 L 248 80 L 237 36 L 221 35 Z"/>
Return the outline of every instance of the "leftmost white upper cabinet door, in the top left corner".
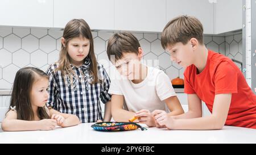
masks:
<path fill-rule="evenodd" d="M 53 27 L 52 0 L 1 0 L 1 26 Z"/>

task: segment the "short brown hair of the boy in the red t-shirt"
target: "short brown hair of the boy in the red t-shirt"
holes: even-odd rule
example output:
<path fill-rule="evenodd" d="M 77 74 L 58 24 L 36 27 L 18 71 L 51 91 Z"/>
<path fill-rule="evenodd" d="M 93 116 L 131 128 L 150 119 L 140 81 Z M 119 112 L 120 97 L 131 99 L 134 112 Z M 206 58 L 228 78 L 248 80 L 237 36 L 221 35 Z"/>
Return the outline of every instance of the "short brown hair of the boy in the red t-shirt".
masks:
<path fill-rule="evenodd" d="M 203 25 L 197 18 L 187 15 L 177 16 L 168 22 L 163 29 L 161 35 L 162 47 L 166 49 L 168 45 L 174 45 L 179 42 L 185 45 L 192 37 L 195 37 L 200 44 L 203 44 L 203 31 Z"/>

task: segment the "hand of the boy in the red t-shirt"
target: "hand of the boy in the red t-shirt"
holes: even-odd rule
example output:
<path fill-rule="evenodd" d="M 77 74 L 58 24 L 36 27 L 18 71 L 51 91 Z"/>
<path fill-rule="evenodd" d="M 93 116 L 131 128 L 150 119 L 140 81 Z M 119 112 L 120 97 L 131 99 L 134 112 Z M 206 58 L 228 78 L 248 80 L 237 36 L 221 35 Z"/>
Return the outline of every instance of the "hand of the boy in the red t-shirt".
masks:
<path fill-rule="evenodd" d="M 167 127 L 168 129 L 172 129 L 174 127 L 174 119 L 166 111 L 154 110 L 152 114 L 155 116 L 155 121 L 159 125 L 159 128 Z"/>

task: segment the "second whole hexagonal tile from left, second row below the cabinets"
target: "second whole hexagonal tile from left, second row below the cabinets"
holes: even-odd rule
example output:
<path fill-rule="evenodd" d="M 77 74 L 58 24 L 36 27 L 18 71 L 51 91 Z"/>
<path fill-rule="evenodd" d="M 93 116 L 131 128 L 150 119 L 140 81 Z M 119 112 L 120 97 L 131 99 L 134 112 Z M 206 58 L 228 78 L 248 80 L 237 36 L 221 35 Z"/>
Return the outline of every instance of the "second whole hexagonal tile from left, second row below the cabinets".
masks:
<path fill-rule="evenodd" d="M 31 53 L 39 48 L 39 39 L 33 35 L 28 35 L 22 39 L 22 48 Z"/>

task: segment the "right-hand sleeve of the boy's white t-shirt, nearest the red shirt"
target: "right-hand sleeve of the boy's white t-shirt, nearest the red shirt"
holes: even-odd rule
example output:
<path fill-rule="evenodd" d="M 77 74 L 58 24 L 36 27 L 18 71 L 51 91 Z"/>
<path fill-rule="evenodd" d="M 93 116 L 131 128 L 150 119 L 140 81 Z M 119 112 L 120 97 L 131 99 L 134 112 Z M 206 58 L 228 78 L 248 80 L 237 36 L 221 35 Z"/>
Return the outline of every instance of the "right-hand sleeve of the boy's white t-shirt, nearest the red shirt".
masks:
<path fill-rule="evenodd" d="M 169 77 L 164 72 L 160 72 L 156 78 L 156 93 L 160 100 L 176 96 L 174 87 L 172 87 Z"/>

